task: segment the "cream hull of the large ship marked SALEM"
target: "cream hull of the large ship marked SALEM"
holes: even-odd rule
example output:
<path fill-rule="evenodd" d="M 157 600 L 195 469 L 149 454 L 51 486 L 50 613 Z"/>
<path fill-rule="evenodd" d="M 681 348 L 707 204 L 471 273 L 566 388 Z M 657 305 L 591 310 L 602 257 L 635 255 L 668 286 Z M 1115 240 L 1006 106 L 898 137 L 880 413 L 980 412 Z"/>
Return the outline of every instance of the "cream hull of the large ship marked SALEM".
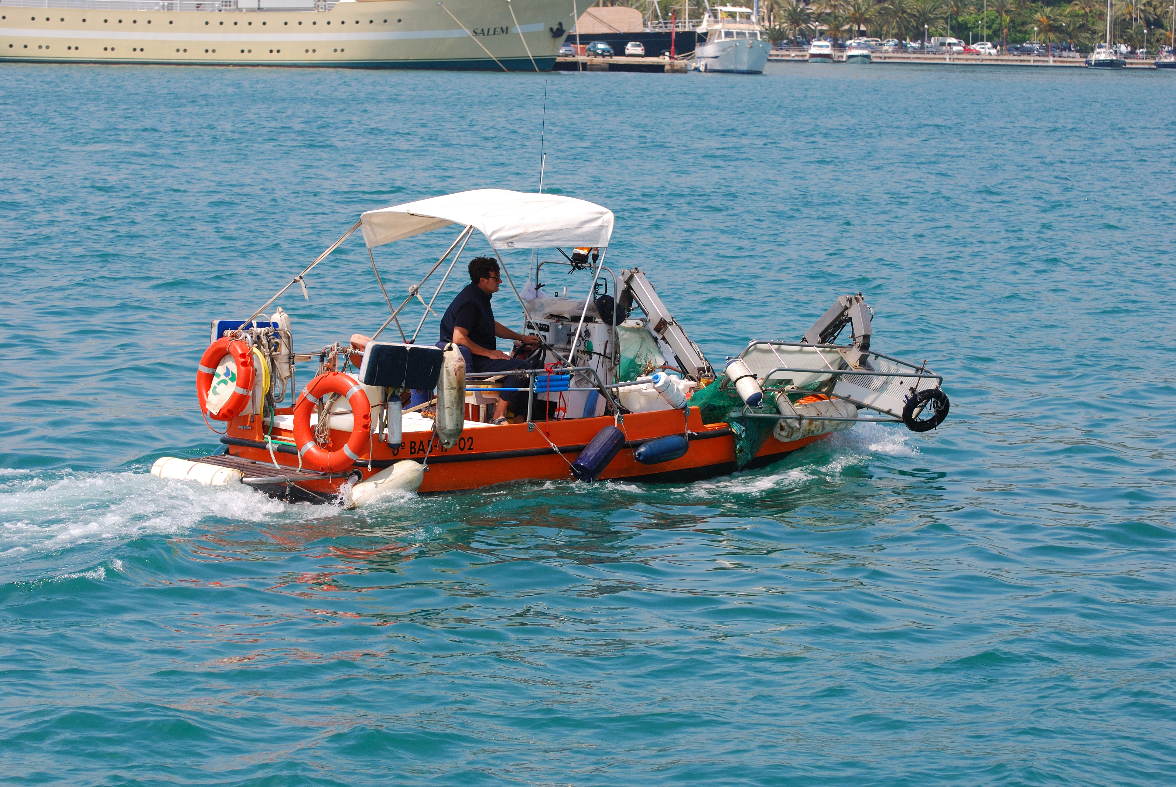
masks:
<path fill-rule="evenodd" d="M 564 0 L 365 0 L 262 12 L 4 5 L 0 15 L 7 61 L 550 71 L 572 7 Z"/>

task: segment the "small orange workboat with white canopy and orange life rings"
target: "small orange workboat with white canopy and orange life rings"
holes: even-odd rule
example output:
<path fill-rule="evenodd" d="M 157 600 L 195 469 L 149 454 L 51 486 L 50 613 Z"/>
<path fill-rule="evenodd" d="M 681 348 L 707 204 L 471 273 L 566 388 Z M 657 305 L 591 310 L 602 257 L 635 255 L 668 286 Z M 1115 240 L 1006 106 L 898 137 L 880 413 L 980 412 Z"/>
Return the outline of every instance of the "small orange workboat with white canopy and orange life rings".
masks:
<path fill-rule="evenodd" d="M 370 253 L 450 227 L 448 249 L 399 306 L 370 258 L 372 287 L 390 311 L 370 339 L 345 339 L 354 326 L 341 325 L 339 341 L 295 349 L 290 316 L 275 305 L 299 287 L 306 296 L 307 274 L 353 233 L 361 231 Z M 397 489 L 520 480 L 693 481 L 770 465 L 858 422 L 924 432 L 947 416 L 940 375 L 871 348 L 873 312 L 860 293 L 837 298 L 800 341 L 755 340 L 713 366 L 643 271 L 604 266 L 612 234 L 613 213 L 599 205 L 501 189 L 363 213 L 276 294 L 259 296 L 252 313 L 212 322 L 196 398 L 209 426 L 223 425 L 214 429 L 223 448 L 194 461 L 166 456 L 152 472 L 362 506 Z M 526 368 L 510 373 L 509 387 L 501 373 L 470 372 L 455 345 L 421 334 L 446 285 L 455 289 L 450 274 L 472 241 L 488 246 L 509 285 L 503 294 L 517 300 L 519 324 L 540 338 L 516 342 Z M 512 259 L 532 249 L 535 262 Z M 528 275 L 516 287 L 510 268 L 521 265 Z M 586 274 L 582 296 L 546 295 L 542 278 L 553 269 Z M 412 338 L 401 327 L 409 309 L 421 312 Z M 382 339 L 394 324 L 400 341 Z M 838 344 L 846 328 L 850 341 Z M 309 379 L 295 396 L 303 368 Z M 499 395 L 523 402 L 513 422 L 487 422 Z"/>

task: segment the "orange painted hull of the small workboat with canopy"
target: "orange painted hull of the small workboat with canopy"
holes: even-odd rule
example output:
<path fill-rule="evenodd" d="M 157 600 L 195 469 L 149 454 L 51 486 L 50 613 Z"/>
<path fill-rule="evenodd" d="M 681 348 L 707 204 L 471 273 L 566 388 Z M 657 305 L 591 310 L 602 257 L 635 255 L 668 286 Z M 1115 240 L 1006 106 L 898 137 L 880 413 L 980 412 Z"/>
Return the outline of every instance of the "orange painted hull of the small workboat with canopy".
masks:
<path fill-rule="evenodd" d="M 279 415 L 290 409 L 279 411 Z M 457 445 L 448 451 L 430 432 L 406 432 L 397 446 L 388 446 L 383 435 L 372 435 L 370 456 L 363 453 L 354 467 L 334 469 L 336 478 L 300 481 L 302 491 L 310 496 L 330 495 L 347 482 L 348 475 L 358 472 L 365 479 L 397 461 L 408 459 L 425 461 L 428 454 L 428 472 L 420 492 L 453 492 L 520 480 L 570 480 L 570 462 L 580 451 L 606 426 L 613 425 L 613 416 L 570 419 L 564 421 L 537 421 L 534 429 L 527 423 L 505 423 L 467 428 Z M 603 479 L 634 479 L 644 481 L 695 481 L 715 475 L 724 475 L 736 469 L 735 435 L 726 423 L 702 423 L 699 408 L 691 407 L 688 422 L 683 425 L 681 411 L 657 411 L 630 413 L 619 423 L 627 442 L 621 453 L 600 474 Z M 682 434 L 689 428 L 690 448 L 684 456 L 659 465 L 642 465 L 633 458 L 633 451 L 641 443 L 669 434 Z M 298 452 L 293 446 L 293 433 L 275 428 L 272 433 L 274 454 L 270 456 L 265 443 L 261 418 L 241 416 L 229 421 L 228 433 L 221 438 L 228 456 L 267 463 L 274 474 L 296 474 Z M 795 442 L 780 442 L 768 438 L 749 467 L 762 467 L 802 448 L 826 435 L 814 435 Z M 346 432 L 332 431 L 332 449 L 342 446 Z M 433 438 L 432 446 L 429 445 Z M 559 447 L 556 453 L 553 443 Z M 281 473 L 273 467 L 276 461 Z M 370 469 L 368 465 L 370 463 Z M 265 489 L 270 494 L 287 496 L 294 492 L 285 485 Z M 285 492 L 285 494 L 283 494 Z M 293 496 L 299 496 L 294 494 Z"/>

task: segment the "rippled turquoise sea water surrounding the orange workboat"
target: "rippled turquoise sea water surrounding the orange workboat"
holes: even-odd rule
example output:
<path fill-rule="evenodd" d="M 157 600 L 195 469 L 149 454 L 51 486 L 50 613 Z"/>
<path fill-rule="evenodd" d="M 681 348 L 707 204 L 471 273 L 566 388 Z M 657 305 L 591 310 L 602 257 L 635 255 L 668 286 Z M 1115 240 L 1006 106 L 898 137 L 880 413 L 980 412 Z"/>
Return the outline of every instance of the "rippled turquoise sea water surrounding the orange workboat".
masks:
<path fill-rule="evenodd" d="M 211 319 L 361 211 L 535 188 L 544 84 L 547 185 L 714 359 L 861 291 L 948 422 L 359 513 L 147 474 L 216 446 Z M 1176 781 L 1174 92 L 5 67 L 5 781 Z M 353 240 L 281 301 L 300 348 L 382 320 Z M 377 249 L 389 289 L 447 241 Z"/>

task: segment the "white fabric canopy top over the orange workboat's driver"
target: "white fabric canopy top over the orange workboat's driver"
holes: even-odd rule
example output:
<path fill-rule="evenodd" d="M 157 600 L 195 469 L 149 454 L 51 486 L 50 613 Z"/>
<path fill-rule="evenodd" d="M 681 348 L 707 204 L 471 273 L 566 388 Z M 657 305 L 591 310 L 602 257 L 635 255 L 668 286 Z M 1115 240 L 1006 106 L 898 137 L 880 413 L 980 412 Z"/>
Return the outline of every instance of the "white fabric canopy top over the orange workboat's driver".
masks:
<path fill-rule="evenodd" d="M 433 196 L 360 216 L 368 248 L 412 238 L 452 224 L 473 225 L 500 248 L 604 247 L 613 212 L 557 194 L 480 188 Z"/>

